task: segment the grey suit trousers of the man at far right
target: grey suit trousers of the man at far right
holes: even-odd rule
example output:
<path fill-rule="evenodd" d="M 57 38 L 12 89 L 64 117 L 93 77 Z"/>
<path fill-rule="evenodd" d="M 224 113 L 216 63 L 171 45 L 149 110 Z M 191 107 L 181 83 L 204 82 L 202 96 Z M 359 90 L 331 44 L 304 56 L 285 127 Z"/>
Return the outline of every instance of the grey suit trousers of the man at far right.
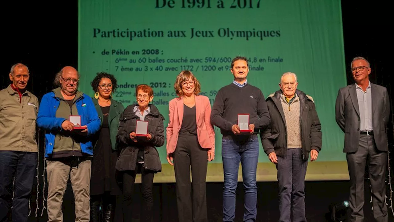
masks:
<path fill-rule="evenodd" d="M 376 149 L 374 136 L 360 135 L 357 152 L 346 154 L 350 176 L 350 209 L 351 222 L 364 221 L 364 174 L 368 164 L 372 189 L 372 206 L 377 222 L 388 222 L 386 196 L 387 152 Z"/>

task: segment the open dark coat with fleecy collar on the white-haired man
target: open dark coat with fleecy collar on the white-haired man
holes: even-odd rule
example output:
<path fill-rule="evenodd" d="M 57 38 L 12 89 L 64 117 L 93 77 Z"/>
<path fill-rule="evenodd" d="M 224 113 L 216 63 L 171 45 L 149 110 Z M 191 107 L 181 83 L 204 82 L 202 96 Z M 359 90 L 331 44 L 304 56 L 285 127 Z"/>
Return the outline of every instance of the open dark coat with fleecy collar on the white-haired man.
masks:
<path fill-rule="evenodd" d="M 264 152 L 268 155 L 275 152 L 279 156 L 286 154 L 287 150 L 287 130 L 286 121 L 281 103 L 281 90 L 271 94 L 266 99 L 271 117 L 269 127 L 260 132 L 261 142 Z M 309 152 L 315 149 L 318 152 L 322 149 L 322 126 L 316 112 L 312 97 L 300 90 L 296 90 L 300 100 L 300 124 L 301 124 L 301 143 L 302 159 L 308 160 Z"/>

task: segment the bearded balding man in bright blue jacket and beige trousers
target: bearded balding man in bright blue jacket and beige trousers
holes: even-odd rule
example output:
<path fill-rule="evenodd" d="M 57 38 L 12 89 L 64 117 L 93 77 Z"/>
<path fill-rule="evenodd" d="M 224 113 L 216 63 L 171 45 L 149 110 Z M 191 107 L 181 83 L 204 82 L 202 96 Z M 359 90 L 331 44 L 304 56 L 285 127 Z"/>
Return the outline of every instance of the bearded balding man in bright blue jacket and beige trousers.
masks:
<path fill-rule="evenodd" d="M 90 220 L 90 135 L 99 130 L 100 119 L 92 99 L 77 90 L 79 77 L 71 66 L 57 73 L 54 83 L 59 87 L 43 96 L 37 116 L 38 127 L 46 130 L 48 222 L 63 221 L 61 205 L 69 177 L 75 198 L 75 221 Z M 74 129 L 69 116 L 80 116 L 84 129 Z"/>

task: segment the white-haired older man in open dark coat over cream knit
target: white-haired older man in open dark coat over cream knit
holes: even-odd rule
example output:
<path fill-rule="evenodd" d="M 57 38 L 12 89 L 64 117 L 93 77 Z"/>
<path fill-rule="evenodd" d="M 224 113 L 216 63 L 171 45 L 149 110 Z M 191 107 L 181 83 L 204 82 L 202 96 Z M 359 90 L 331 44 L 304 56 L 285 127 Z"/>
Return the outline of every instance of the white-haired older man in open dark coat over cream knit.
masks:
<path fill-rule="evenodd" d="M 311 161 L 317 160 L 322 148 L 314 101 L 297 90 L 297 85 L 296 74 L 282 75 L 281 90 L 266 100 L 271 124 L 260 132 L 264 152 L 278 170 L 280 222 L 307 221 L 304 182 L 309 153 Z"/>

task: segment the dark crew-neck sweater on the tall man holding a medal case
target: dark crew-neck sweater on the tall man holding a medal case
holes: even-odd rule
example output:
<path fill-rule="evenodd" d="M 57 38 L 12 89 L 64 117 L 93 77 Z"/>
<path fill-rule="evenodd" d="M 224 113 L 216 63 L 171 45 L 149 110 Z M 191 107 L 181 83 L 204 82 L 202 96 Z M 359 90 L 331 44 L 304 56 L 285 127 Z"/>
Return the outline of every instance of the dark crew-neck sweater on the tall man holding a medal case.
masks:
<path fill-rule="evenodd" d="M 249 114 L 249 124 L 255 125 L 254 133 L 269 125 L 267 103 L 259 88 L 249 83 L 243 87 L 231 83 L 217 92 L 211 123 L 220 128 L 223 136 L 234 135 L 231 127 L 238 124 L 238 114 Z"/>

